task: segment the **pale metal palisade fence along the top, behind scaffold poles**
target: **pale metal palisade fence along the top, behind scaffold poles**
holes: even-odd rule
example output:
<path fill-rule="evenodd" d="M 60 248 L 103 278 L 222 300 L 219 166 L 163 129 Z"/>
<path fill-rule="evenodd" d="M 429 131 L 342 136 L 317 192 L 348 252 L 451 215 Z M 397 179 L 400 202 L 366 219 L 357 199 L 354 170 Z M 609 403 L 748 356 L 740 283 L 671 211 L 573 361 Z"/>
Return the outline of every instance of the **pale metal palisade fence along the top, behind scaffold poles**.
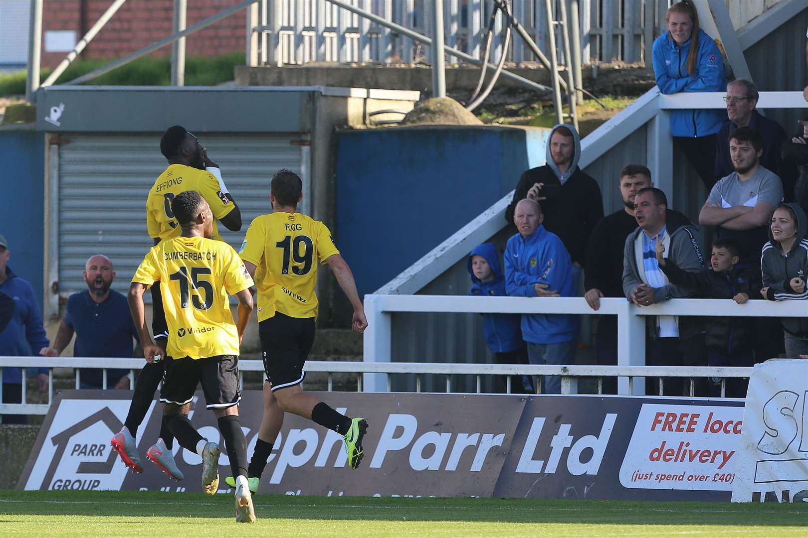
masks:
<path fill-rule="evenodd" d="M 432 35 L 424 0 L 344 0 L 422 35 Z M 565 0 L 579 13 L 582 61 L 650 58 L 664 28 L 667 2 L 659 0 Z M 445 43 L 482 59 L 493 0 L 444 0 Z M 558 10 L 553 0 L 553 10 Z M 545 54 L 549 53 L 545 0 L 511 0 L 511 10 Z M 571 12 L 568 9 L 568 12 Z M 503 54 L 503 18 L 494 25 L 491 61 Z M 250 65 L 301 65 L 312 61 L 411 63 L 423 59 L 423 45 L 372 23 L 327 0 L 259 0 L 250 11 Z M 511 41 L 507 60 L 537 60 L 520 40 Z M 457 62 L 457 58 L 452 58 Z"/>

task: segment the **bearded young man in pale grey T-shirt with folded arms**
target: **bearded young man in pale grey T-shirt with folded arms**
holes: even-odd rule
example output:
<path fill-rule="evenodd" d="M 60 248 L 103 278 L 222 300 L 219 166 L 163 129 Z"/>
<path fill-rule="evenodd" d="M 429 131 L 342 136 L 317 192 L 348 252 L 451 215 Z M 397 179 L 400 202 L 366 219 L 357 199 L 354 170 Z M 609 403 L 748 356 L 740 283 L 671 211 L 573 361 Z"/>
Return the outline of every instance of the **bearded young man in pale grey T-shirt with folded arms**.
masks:
<path fill-rule="evenodd" d="M 741 247 L 739 266 L 760 273 L 760 252 L 768 241 L 768 224 L 783 200 L 780 178 L 760 165 L 763 134 L 755 127 L 730 133 L 730 156 L 735 171 L 713 186 L 699 213 L 699 224 L 714 226 L 717 239 L 734 240 Z M 753 332 L 755 361 L 777 357 L 783 343 L 776 318 L 760 318 Z"/>

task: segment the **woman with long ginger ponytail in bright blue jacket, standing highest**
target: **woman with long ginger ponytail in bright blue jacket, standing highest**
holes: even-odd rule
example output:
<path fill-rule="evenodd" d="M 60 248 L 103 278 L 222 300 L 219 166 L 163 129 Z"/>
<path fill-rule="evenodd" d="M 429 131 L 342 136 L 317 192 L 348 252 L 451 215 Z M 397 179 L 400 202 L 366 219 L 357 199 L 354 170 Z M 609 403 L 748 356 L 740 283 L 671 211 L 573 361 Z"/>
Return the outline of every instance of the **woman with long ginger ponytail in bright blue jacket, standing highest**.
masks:
<path fill-rule="evenodd" d="M 667 31 L 654 41 L 654 76 L 663 94 L 726 90 L 724 61 L 715 41 L 699 28 L 692 0 L 667 10 Z M 704 181 L 707 190 L 715 183 L 716 133 L 726 111 L 671 111 L 671 135 L 675 144 Z"/>

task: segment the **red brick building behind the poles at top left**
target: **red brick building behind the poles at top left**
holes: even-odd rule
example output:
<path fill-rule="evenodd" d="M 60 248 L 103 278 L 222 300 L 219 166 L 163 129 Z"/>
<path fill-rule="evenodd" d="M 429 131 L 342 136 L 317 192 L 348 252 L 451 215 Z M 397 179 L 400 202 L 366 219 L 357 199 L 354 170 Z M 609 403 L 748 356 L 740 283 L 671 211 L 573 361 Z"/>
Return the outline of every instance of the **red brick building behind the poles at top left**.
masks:
<path fill-rule="evenodd" d="M 216 15 L 240 0 L 188 0 L 187 26 Z M 42 65 L 56 66 L 112 5 L 112 0 L 44 0 Z M 172 33 L 174 0 L 128 0 L 79 57 L 126 56 Z M 244 52 L 246 9 L 197 31 L 186 39 L 187 56 Z M 66 49 L 66 50 L 65 50 Z M 152 56 L 170 56 L 166 45 Z"/>

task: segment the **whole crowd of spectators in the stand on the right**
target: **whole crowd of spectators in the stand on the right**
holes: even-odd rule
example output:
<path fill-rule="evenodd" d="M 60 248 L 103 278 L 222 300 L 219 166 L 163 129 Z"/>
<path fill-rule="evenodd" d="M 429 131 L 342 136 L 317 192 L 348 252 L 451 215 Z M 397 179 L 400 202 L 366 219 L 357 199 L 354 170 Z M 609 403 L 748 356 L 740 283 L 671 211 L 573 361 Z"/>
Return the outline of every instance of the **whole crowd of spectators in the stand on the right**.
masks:
<path fill-rule="evenodd" d="M 619 174 L 624 207 L 604 216 L 597 182 L 578 166 L 578 133 L 557 125 L 547 144 L 547 164 L 523 173 L 516 184 L 505 219 L 517 233 L 507 240 L 504 273 L 490 273 L 487 294 L 583 295 L 593 311 L 604 297 L 625 298 L 637 307 L 669 298 L 739 304 L 808 299 L 808 122 L 800 122 L 789 140 L 781 125 L 756 110 L 759 94 L 751 81 L 726 83 L 722 51 L 699 28 L 689 0 L 668 10 L 667 32 L 654 41 L 653 63 L 663 94 L 726 90 L 726 114 L 671 112 L 674 145 L 709 189 L 698 223 L 672 210 L 663 190 L 654 188 L 650 170 L 633 164 Z M 709 250 L 701 245 L 702 232 L 711 238 Z M 494 245 L 483 244 L 469 257 L 469 271 L 483 251 L 487 266 L 499 269 Z M 481 277 L 474 273 L 472 279 L 470 293 L 482 294 Z M 519 363 L 497 348 L 507 332 L 508 351 L 524 344 L 530 364 L 569 365 L 578 318 L 521 315 L 520 341 L 513 315 L 508 323 L 507 315 L 486 315 L 486 340 L 499 362 Z M 784 351 L 786 357 L 808 358 L 808 317 L 659 315 L 646 316 L 646 324 L 648 365 L 751 366 Z M 519 357 L 524 361 L 524 352 Z M 617 365 L 616 316 L 600 316 L 595 361 Z M 696 380 L 696 395 L 720 395 L 720 381 Z M 690 390 L 689 381 L 647 386 L 649 394 Z M 604 379 L 605 393 L 616 388 L 615 378 Z M 542 379 L 541 389 L 558 393 L 560 380 Z M 728 380 L 726 394 L 745 396 L 746 383 Z"/>

